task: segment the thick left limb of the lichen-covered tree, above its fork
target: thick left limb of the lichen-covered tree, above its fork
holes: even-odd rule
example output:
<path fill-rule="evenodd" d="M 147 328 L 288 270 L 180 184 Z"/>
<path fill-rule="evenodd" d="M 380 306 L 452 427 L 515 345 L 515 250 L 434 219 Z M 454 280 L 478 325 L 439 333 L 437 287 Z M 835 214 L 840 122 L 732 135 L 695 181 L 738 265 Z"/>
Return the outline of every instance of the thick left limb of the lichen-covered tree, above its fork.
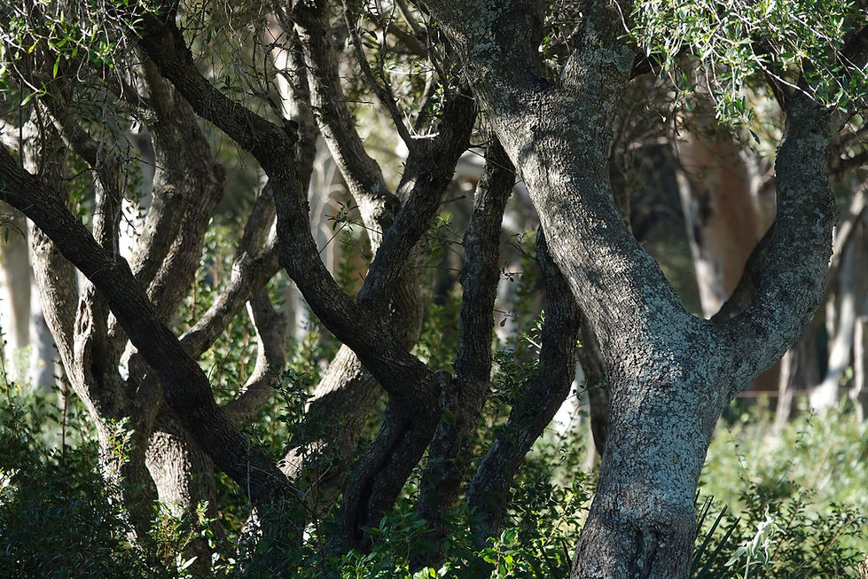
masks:
<path fill-rule="evenodd" d="M 622 14 L 631 4 L 588 4 L 584 42 L 554 84 L 537 74 L 539 27 L 526 4 L 425 4 L 456 43 L 474 92 L 528 185 L 552 257 L 570 272 L 575 299 L 606 356 L 626 356 L 615 350 L 643 344 L 652 327 L 673 317 L 689 317 L 623 223 L 608 181 L 614 113 L 634 58 L 622 38 Z M 509 66 L 499 61 L 502 55 L 509 55 Z M 617 300 L 613 287 L 620 289 Z"/>

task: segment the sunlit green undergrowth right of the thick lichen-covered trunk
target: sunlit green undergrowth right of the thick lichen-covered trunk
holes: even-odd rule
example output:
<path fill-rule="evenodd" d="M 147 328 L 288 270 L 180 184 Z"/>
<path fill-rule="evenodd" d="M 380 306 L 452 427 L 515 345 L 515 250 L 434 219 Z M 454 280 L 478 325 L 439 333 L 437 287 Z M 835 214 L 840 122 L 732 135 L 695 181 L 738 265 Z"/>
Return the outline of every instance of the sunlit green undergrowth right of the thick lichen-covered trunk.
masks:
<path fill-rule="evenodd" d="M 849 481 L 864 480 L 864 458 L 841 455 L 864 449 L 864 425 L 848 414 L 807 415 L 773 434 L 769 418 L 746 412 L 712 442 L 702 489 L 728 506 L 716 520 L 700 517 L 695 576 L 860 576 L 868 519 L 864 487 Z"/>

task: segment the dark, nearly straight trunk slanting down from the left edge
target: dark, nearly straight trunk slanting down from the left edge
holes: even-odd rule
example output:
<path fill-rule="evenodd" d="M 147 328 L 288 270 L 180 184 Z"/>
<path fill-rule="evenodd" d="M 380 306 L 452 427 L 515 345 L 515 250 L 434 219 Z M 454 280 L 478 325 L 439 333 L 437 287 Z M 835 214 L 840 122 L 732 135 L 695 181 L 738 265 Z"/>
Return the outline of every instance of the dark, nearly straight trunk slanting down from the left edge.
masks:
<path fill-rule="evenodd" d="M 160 374 L 168 405 L 215 464 L 244 488 L 254 503 L 287 497 L 285 477 L 232 426 L 211 395 L 207 377 L 160 320 L 127 263 L 98 246 L 51 188 L 18 167 L 0 150 L 0 192 L 57 244 L 70 262 L 97 286 L 129 339 Z"/>

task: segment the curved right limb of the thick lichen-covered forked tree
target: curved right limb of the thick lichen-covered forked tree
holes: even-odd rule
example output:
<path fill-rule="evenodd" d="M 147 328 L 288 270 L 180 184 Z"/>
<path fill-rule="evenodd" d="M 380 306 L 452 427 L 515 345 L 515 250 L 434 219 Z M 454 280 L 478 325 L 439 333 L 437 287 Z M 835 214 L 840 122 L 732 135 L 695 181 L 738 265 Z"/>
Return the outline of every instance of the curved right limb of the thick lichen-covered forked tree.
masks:
<path fill-rule="evenodd" d="M 823 298 L 837 219 L 828 178 L 829 115 L 802 92 L 787 108 L 775 162 L 778 215 L 762 281 L 744 313 L 724 325 L 743 353 L 733 387 L 777 362 Z"/>

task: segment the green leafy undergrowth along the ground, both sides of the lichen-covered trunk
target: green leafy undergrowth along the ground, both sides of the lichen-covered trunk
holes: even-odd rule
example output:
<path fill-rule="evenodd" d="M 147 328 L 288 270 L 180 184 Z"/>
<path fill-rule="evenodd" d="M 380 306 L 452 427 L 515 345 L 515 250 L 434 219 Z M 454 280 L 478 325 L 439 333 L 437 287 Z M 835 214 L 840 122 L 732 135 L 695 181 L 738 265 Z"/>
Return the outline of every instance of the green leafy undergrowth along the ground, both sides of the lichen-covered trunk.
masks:
<path fill-rule="evenodd" d="M 297 374 L 290 378 L 290 384 L 303 382 Z M 593 487 L 592 477 L 579 468 L 584 434 L 574 430 L 565 437 L 543 437 L 515 479 L 507 527 L 500 536 L 476 551 L 466 530 L 473 513 L 458 508 L 447 520 L 452 534 L 444 545 L 446 563 L 437 569 L 411 571 L 413 557 L 431 548 L 423 537 L 424 524 L 413 513 L 412 485 L 395 511 L 378 528 L 369 529 L 376 539 L 371 551 L 353 551 L 342 558 L 323 555 L 333 525 L 328 517 L 309 527 L 304 544 L 259 541 L 245 552 L 241 513 L 249 511 L 238 504 L 233 505 L 237 514 L 229 536 L 215 536 L 207 505 L 199 505 L 195 520 L 155 508 L 150 536 L 145 543 L 132 542 L 129 523 L 113 504 L 113 489 L 100 474 L 97 445 L 80 404 L 73 402 L 63 418 L 53 400 L 21 395 L 14 385 L 6 387 L 5 394 L 0 404 L 0 565 L 12 576 L 188 576 L 202 567 L 195 567 L 184 549 L 201 538 L 213 550 L 208 573 L 216 575 L 268 576 L 266 555 L 278 550 L 281 564 L 299 577 L 566 577 L 572 541 Z M 291 429 L 292 423 L 287 417 L 286 427 Z M 736 428 L 731 434 L 761 432 L 768 426 L 752 415 Z M 61 431 L 64 443 L 59 445 Z M 720 492 L 735 500 L 728 506 L 712 503 L 710 497 L 699 501 L 693 576 L 858 576 L 856 565 L 868 544 L 865 519 L 858 514 L 863 511 L 852 502 L 860 497 L 856 489 L 820 485 L 816 491 L 807 490 L 795 479 L 798 475 L 804 481 L 806 473 L 822 470 L 817 467 L 816 447 L 829 440 L 823 437 L 831 436 L 833 446 L 843 450 L 860 446 L 846 442 L 860 432 L 864 437 L 864 426 L 855 427 L 848 416 L 802 419 L 783 434 L 785 441 L 801 441 L 786 468 L 757 464 L 751 475 L 744 467 L 729 466 L 731 457 L 722 453 L 735 454 L 734 447 L 726 436 L 719 436 L 704 474 L 703 493 Z M 759 456 L 768 448 L 763 436 L 746 434 L 744 441 L 737 450 L 742 457 Z M 826 464 L 830 458 L 822 460 Z M 851 470 L 859 467 L 856 462 L 847 464 Z M 856 474 L 833 471 L 843 480 Z M 833 496 L 838 502 L 830 500 Z M 228 506 L 222 502 L 218 511 Z"/>

